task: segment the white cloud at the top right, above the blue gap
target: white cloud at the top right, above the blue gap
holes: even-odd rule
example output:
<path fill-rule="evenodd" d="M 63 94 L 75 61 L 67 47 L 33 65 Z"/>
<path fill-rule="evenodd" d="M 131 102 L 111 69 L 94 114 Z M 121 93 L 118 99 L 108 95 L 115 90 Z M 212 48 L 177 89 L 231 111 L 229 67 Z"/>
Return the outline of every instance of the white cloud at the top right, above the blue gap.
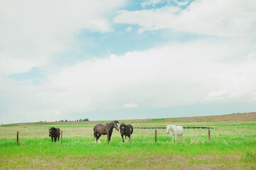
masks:
<path fill-rule="evenodd" d="M 254 0 L 202 0 L 193 1 L 184 10 L 178 6 L 164 6 L 150 10 L 119 11 L 114 22 L 138 24 L 141 27 L 139 33 L 170 28 L 220 37 L 255 36 L 255 7 Z"/>

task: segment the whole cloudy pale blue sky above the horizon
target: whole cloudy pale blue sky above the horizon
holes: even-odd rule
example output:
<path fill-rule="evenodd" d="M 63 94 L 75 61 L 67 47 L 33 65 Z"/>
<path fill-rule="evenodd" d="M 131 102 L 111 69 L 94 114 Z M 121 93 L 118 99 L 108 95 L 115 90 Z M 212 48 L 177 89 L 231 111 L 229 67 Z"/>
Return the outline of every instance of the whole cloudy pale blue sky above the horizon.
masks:
<path fill-rule="evenodd" d="M 255 0 L 0 0 L 0 123 L 256 111 Z"/>

